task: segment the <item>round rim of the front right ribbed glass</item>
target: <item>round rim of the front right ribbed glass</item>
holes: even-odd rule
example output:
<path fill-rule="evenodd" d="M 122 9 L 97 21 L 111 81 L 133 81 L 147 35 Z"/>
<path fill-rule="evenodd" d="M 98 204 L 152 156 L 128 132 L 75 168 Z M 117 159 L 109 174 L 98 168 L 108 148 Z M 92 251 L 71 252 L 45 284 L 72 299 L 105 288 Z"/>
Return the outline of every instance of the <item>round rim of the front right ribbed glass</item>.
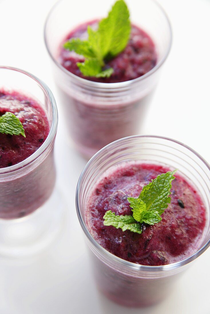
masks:
<path fill-rule="evenodd" d="M 157 139 L 163 139 L 163 140 L 167 140 L 169 142 L 173 142 L 176 144 L 179 144 L 180 146 L 190 150 L 193 154 L 195 154 L 208 168 L 208 170 L 210 171 L 210 165 L 207 163 L 207 161 L 200 155 L 198 154 L 194 149 L 190 148 L 189 146 L 187 146 L 186 144 L 179 142 L 177 140 L 174 140 L 172 138 L 168 138 L 168 137 L 164 137 L 164 136 L 157 136 L 157 135 L 133 135 L 133 136 L 128 136 L 125 138 L 121 138 L 118 139 L 108 145 L 106 145 L 105 147 L 103 147 L 102 149 L 100 149 L 87 163 L 87 165 L 84 167 L 84 169 L 82 170 L 82 173 L 79 177 L 78 183 L 77 183 L 77 188 L 76 188 L 76 210 L 77 210 L 77 216 L 80 222 L 80 225 L 82 227 L 82 230 L 85 234 L 85 236 L 88 238 L 88 240 L 93 244 L 93 246 L 99 251 L 101 252 L 104 256 L 108 257 L 109 260 L 112 260 L 116 263 L 118 263 L 121 266 L 124 266 L 125 268 L 134 270 L 134 271 L 143 271 L 143 272 L 147 272 L 147 271 L 151 271 L 154 273 L 160 272 L 160 271 L 170 271 L 170 270 L 174 270 L 177 268 L 180 268 L 184 265 L 189 264 L 190 262 L 192 262 L 193 260 L 195 260 L 198 256 L 200 256 L 204 251 L 206 251 L 206 249 L 210 246 L 210 239 L 199 249 L 197 250 L 195 253 L 193 253 L 192 255 L 190 255 L 189 257 L 178 261 L 176 263 L 172 263 L 172 264 L 167 264 L 167 265 L 161 265 L 161 266 L 150 266 L 150 265 L 141 265 L 141 264 L 136 264 L 136 263 L 132 263 L 129 261 L 126 261 L 120 257 L 117 257 L 116 255 L 110 253 L 109 251 L 107 251 L 104 247 L 102 247 L 91 235 L 91 233 L 89 232 L 84 219 L 82 218 L 81 215 L 81 211 L 80 211 L 80 206 L 79 206 L 79 190 L 80 190 L 80 183 L 82 181 L 83 176 L 85 175 L 85 173 L 88 171 L 89 167 L 91 167 L 92 163 L 95 161 L 95 159 L 103 154 L 103 152 L 107 149 L 109 149 L 110 147 L 112 147 L 113 145 L 116 145 L 117 143 L 121 143 L 123 141 L 127 141 L 130 139 L 135 139 L 135 138 L 157 138 Z"/>

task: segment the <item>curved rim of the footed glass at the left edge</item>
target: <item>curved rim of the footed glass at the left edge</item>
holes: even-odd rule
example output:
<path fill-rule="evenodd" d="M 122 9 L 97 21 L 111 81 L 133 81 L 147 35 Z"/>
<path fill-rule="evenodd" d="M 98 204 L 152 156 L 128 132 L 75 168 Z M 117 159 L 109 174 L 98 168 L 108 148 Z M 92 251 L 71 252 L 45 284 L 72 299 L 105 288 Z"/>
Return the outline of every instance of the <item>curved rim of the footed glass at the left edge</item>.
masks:
<path fill-rule="evenodd" d="M 30 164 L 31 162 L 33 162 L 35 159 L 37 159 L 37 157 L 39 157 L 50 145 L 50 143 L 52 143 L 55 134 L 57 132 L 57 128 L 58 128 L 58 109 L 56 106 L 56 101 L 54 98 L 53 93 L 51 92 L 51 90 L 48 88 L 48 86 L 39 78 L 37 78 L 35 75 L 22 70 L 20 68 L 14 68 L 14 67 L 9 67 L 9 66 L 1 66 L 0 65 L 0 69 L 6 69 L 6 70 L 12 70 L 12 71 L 16 71 L 22 74 L 27 75 L 28 77 L 32 78 L 35 82 L 37 82 L 37 84 L 42 88 L 44 94 L 47 96 L 49 103 L 51 105 L 51 110 L 52 110 L 52 123 L 50 126 L 50 130 L 49 130 L 49 134 L 46 138 L 46 140 L 44 141 L 44 143 L 33 153 L 31 154 L 29 157 L 27 157 L 26 159 L 20 161 L 19 163 L 12 165 L 12 166 L 8 166 L 8 167 L 4 167 L 4 168 L 0 168 L 0 175 L 2 174 L 8 174 L 11 173 L 15 170 L 18 170 L 20 168 L 25 167 L 26 165 Z"/>

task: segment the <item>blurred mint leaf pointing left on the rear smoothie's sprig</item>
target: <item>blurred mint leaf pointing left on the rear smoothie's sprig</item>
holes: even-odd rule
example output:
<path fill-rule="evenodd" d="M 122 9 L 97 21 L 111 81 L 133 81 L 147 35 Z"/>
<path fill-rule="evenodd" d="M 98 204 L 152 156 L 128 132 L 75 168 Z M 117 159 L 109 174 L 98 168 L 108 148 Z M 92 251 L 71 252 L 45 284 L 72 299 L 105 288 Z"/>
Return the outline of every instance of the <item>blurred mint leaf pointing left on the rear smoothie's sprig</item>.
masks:
<path fill-rule="evenodd" d="M 73 38 L 71 41 L 65 42 L 64 48 L 70 51 L 73 50 L 78 53 L 78 55 L 82 55 L 85 58 L 95 57 L 94 51 L 89 46 L 88 41 L 81 41 L 79 38 Z"/>

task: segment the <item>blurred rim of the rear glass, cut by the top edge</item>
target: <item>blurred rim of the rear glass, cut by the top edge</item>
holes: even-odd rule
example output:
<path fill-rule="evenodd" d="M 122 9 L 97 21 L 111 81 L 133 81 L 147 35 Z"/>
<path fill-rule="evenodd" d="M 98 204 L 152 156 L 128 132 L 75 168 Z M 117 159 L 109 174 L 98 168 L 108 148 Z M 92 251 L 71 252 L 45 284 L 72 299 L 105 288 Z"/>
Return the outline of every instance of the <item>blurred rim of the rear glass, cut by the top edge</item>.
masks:
<path fill-rule="evenodd" d="M 89 87 L 92 87 L 92 88 L 99 88 L 99 89 L 110 89 L 110 88 L 125 88 L 125 87 L 128 87 L 132 84 L 135 84 L 135 83 L 139 83 L 141 81 L 143 81 L 145 78 L 149 77 L 150 75 L 152 75 L 153 73 L 155 73 L 161 66 L 162 64 L 165 62 L 165 60 L 167 59 L 167 56 L 171 50 L 171 46 L 172 46 L 172 27 L 171 27 L 171 23 L 170 23 L 170 20 L 165 12 L 165 10 L 162 8 L 162 6 L 156 1 L 156 0 L 150 0 L 152 1 L 163 13 L 163 16 L 165 17 L 166 19 L 166 22 L 167 22 L 167 26 L 168 26 L 168 30 L 169 30 L 169 36 L 170 36 L 170 40 L 169 40 L 169 43 L 168 43 L 168 46 L 167 46 L 167 49 L 166 49 L 166 52 L 164 54 L 164 56 L 161 58 L 160 61 L 157 62 L 157 64 L 155 65 L 154 68 L 152 68 L 149 72 L 145 73 L 144 75 L 138 77 L 138 78 L 134 78 L 132 80 L 129 80 L 129 81 L 125 81 L 125 82 L 118 82 L 118 83 L 101 83 L 101 82 L 94 82 L 94 81 L 90 81 L 88 79 L 85 79 L 85 78 L 81 78 L 73 73 L 71 73 L 70 71 L 66 70 L 55 58 L 54 56 L 52 55 L 51 51 L 50 51 L 50 48 L 48 47 L 48 41 L 47 41 L 47 24 L 48 24 L 48 21 L 51 17 L 51 14 L 53 13 L 53 11 L 56 9 L 56 7 L 62 2 L 62 1 L 65 1 L 65 0 L 58 0 L 54 5 L 53 7 L 50 9 L 48 15 L 47 15 L 47 18 L 45 20 L 45 23 L 44 23 L 44 43 L 45 43 L 45 46 L 47 48 L 47 51 L 48 51 L 48 54 L 49 56 L 51 57 L 51 59 L 53 60 L 53 62 L 55 63 L 55 65 L 60 68 L 61 71 L 63 71 L 66 75 L 68 75 L 69 77 L 75 79 L 78 83 L 80 84 L 86 84 L 88 85 Z"/>

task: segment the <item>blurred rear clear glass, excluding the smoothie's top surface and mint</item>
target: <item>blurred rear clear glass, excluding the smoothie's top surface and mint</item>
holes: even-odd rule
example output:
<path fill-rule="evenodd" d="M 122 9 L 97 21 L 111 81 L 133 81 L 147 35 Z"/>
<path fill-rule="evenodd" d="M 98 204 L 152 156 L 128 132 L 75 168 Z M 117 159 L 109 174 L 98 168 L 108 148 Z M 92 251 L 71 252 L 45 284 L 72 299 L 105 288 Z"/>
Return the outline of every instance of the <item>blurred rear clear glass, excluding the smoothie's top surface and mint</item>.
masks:
<path fill-rule="evenodd" d="M 103 17 L 112 5 L 113 0 L 76 1 L 73 6 L 69 0 L 60 0 L 50 11 L 44 30 L 69 134 L 88 158 L 116 139 L 139 134 L 172 41 L 170 23 L 156 1 L 129 0 L 132 23 L 145 30 L 156 45 L 156 66 L 121 83 L 92 82 L 67 71 L 58 58 L 65 36 L 77 25 Z"/>

